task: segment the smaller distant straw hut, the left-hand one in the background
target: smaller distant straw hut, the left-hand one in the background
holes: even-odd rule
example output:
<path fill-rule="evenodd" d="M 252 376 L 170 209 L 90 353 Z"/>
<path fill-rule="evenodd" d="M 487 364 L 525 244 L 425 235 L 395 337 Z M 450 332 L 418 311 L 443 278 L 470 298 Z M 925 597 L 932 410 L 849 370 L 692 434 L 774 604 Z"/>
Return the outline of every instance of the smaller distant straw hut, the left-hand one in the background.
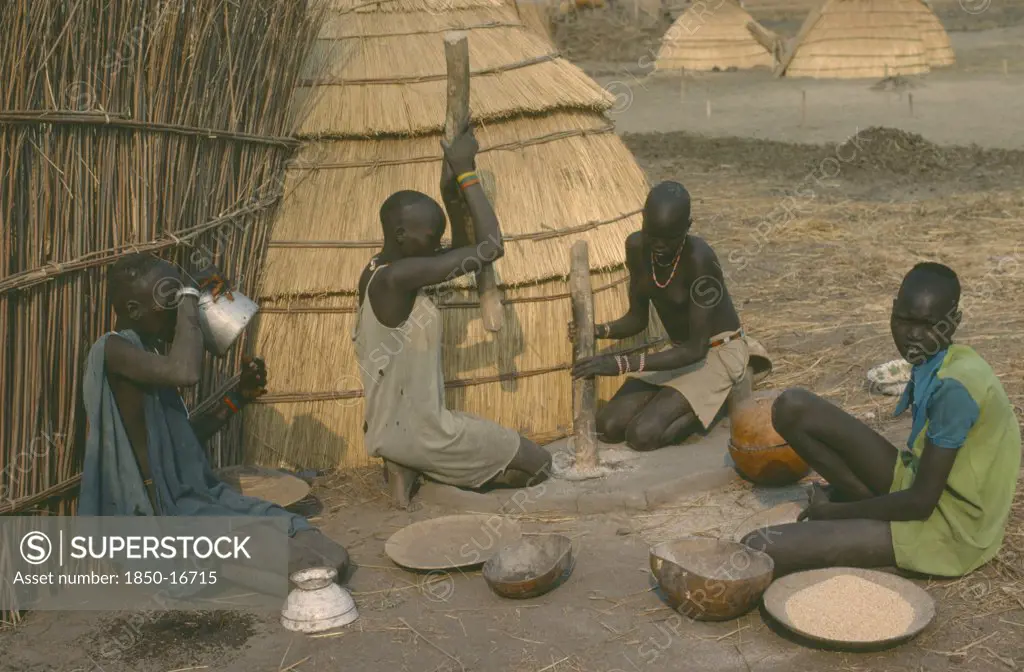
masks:
<path fill-rule="evenodd" d="M 722 0 L 718 8 L 693 5 L 662 38 L 655 70 L 709 71 L 736 68 L 771 68 L 775 65 L 746 24 L 754 18 L 734 0 Z"/>

